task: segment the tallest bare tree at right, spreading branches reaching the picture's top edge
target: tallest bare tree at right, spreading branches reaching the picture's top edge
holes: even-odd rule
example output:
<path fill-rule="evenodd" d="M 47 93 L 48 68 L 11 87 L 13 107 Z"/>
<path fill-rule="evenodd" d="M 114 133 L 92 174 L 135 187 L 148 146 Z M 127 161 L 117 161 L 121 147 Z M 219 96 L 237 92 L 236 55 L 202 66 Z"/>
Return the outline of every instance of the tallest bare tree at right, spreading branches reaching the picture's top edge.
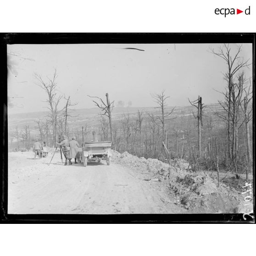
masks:
<path fill-rule="evenodd" d="M 231 99 L 232 99 L 232 87 L 233 87 L 233 79 L 234 75 L 236 72 L 238 72 L 241 68 L 243 67 L 248 67 L 250 64 L 248 64 L 248 61 L 244 61 L 244 59 L 240 56 L 241 55 L 241 50 L 242 50 L 242 45 L 238 47 L 238 50 L 234 53 L 234 58 L 231 55 L 231 48 L 229 45 L 224 44 L 223 47 L 220 47 L 218 51 L 215 51 L 214 49 L 211 49 L 211 52 L 218 56 L 221 57 L 225 63 L 228 65 L 228 71 L 225 73 L 224 79 L 228 82 L 228 95 L 227 95 L 227 100 L 228 100 L 228 156 L 229 158 L 232 157 L 232 149 L 231 149 Z"/>

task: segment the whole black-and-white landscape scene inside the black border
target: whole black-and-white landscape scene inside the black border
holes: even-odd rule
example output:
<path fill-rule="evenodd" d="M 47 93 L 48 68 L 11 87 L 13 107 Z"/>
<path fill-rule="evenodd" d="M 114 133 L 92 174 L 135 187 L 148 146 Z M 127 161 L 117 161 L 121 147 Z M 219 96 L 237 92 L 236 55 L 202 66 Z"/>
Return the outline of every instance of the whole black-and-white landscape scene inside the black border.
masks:
<path fill-rule="evenodd" d="M 239 41 L 7 44 L 7 213 L 251 220 L 253 61 Z"/>

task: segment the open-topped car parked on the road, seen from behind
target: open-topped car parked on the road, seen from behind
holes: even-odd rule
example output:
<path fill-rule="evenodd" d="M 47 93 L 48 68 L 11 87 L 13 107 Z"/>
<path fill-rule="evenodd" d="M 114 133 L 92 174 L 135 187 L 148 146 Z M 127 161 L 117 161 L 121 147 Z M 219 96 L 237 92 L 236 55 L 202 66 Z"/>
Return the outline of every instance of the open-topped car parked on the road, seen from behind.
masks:
<path fill-rule="evenodd" d="M 85 142 L 83 148 L 78 149 L 80 161 L 87 166 L 88 161 L 100 162 L 106 160 L 107 165 L 111 162 L 111 141 Z"/>

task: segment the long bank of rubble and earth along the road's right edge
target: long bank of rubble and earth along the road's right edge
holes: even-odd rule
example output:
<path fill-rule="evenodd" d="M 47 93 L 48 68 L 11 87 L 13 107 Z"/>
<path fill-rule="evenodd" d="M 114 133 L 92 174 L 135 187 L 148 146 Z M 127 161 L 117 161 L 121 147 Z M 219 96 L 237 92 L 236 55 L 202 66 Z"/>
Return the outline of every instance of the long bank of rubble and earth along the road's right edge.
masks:
<path fill-rule="evenodd" d="M 177 196 L 177 202 L 189 213 L 243 213 L 247 210 L 239 191 L 225 183 L 221 183 L 218 188 L 217 179 L 206 173 L 192 172 L 189 163 L 184 159 L 172 159 L 169 166 L 158 159 L 139 158 L 128 152 L 121 154 L 113 151 L 113 160 L 134 171 L 151 175 L 151 178 L 144 180 L 161 181 L 163 178 L 167 180 L 168 177 L 169 188 Z M 236 178 L 235 181 L 242 182 Z"/>

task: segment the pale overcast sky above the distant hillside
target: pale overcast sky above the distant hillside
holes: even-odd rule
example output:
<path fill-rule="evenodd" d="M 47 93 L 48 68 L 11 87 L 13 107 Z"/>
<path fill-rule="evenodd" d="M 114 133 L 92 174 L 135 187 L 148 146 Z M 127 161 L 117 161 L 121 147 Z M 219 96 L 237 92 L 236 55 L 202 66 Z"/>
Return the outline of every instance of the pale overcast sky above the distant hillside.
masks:
<path fill-rule="evenodd" d="M 33 77 L 51 78 L 56 68 L 58 93 L 70 95 L 75 108 L 91 108 L 87 96 L 105 97 L 125 106 L 156 106 L 150 94 L 165 89 L 169 106 L 187 106 L 188 97 L 202 96 L 204 103 L 216 103 L 226 86 L 224 60 L 209 52 L 220 44 L 76 44 L 7 45 L 8 114 L 45 111 L 47 95 Z M 134 47 L 140 50 L 124 50 Z M 230 44 L 232 50 L 237 45 Z M 251 44 L 243 44 L 241 56 L 252 62 Z M 22 57 L 22 58 L 21 58 Z M 24 59 L 28 58 L 28 59 Z M 252 76 L 252 67 L 246 76 Z"/>

